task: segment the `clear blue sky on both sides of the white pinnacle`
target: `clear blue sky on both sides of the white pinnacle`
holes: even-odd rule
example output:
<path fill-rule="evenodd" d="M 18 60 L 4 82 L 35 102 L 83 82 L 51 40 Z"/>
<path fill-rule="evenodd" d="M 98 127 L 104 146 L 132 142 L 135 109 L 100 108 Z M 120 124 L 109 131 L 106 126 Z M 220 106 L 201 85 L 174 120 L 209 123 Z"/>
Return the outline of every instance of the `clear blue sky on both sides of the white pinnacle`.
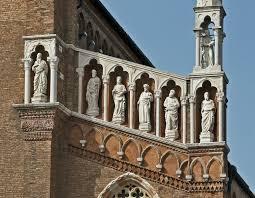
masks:
<path fill-rule="evenodd" d="M 223 0 L 224 1 L 224 0 Z M 188 75 L 195 64 L 195 0 L 101 0 L 161 70 Z M 255 191 L 254 0 L 225 0 L 224 71 L 229 160 Z M 254 152 L 254 153 L 253 153 Z"/>

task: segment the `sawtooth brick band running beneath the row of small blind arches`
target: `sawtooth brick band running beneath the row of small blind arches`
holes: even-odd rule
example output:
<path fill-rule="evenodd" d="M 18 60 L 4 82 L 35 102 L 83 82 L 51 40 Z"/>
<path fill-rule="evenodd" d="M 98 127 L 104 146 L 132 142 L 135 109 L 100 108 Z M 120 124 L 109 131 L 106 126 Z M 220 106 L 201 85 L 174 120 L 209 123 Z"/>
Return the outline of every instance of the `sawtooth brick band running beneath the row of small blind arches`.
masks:
<path fill-rule="evenodd" d="M 206 182 L 184 181 L 170 177 L 161 172 L 152 171 L 138 165 L 134 165 L 118 159 L 109 158 L 102 154 L 91 152 L 86 149 L 77 148 L 71 145 L 68 146 L 66 152 L 69 152 L 76 157 L 87 159 L 89 161 L 113 168 L 121 172 L 131 172 L 146 180 L 156 182 L 167 187 L 180 189 L 186 192 L 222 192 L 225 188 L 225 182 L 222 180 Z"/>

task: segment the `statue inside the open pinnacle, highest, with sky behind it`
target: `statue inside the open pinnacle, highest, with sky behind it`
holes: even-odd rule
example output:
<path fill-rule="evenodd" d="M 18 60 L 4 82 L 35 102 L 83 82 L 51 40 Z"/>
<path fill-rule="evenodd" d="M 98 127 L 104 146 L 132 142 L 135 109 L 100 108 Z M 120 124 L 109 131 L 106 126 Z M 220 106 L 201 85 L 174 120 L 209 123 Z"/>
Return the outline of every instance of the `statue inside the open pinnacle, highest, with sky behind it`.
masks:
<path fill-rule="evenodd" d="M 202 33 L 201 63 L 206 68 L 214 65 L 214 37 L 210 36 L 209 30 Z"/>

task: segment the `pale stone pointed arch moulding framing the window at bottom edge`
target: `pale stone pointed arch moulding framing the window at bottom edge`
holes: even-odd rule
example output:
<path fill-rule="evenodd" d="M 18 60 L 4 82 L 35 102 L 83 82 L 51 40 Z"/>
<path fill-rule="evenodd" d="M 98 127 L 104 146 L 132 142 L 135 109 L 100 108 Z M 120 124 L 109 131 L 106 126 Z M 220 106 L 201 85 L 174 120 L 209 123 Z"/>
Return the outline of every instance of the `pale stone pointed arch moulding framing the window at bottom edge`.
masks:
<path fill-rule="evenodd" d="M 112 198 L 115 194 L 122 192 L 123 189 L 126 190 L 125 187 L 127 185 L 130 185 L 142 191 L 144 194 L 147 195 L 144 196 L 145 198 L 159 198 L 159 195 L 157 194 L 155 189 L 146 180 L 130 172 L 127 172 L 111 181 L 97 198 Z"/>

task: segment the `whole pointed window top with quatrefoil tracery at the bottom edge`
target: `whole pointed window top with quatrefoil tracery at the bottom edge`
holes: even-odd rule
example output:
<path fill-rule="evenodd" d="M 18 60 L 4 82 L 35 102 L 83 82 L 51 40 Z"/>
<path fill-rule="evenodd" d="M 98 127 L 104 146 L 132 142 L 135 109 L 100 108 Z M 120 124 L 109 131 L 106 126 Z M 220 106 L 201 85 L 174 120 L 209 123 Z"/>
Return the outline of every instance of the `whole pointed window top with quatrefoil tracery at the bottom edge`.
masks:
<path fill-rule="evenodd" d="M 113 180 L 98 198 L 159 198 L 154 188 L 141 177 L 125 173 Z"/>

